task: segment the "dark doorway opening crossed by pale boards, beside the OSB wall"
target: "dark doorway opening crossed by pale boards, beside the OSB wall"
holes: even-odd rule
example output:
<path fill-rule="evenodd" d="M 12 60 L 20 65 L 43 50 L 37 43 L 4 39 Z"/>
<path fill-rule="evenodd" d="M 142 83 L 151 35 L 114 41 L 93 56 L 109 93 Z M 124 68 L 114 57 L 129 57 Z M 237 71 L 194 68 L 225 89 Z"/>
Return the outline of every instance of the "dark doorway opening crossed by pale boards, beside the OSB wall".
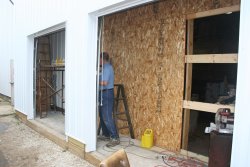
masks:
<path fill-rule="evenodd" d="M 198 102 L 200 108 L 204 104 L 234 107 L 237 61 L 229 59 L 234 55 L 237 59 L 239 16 L 239 12 L 233 12 L 192 20 L 193 48 L 188 54 L 196 61 L 188 62 L 192 65 L 189 102 Z M 199 106 L 190 110 L 188 151 L 208 156 L 210 135 L 204 131 L 215 122 L 215 113 L 199 110 Z"/>

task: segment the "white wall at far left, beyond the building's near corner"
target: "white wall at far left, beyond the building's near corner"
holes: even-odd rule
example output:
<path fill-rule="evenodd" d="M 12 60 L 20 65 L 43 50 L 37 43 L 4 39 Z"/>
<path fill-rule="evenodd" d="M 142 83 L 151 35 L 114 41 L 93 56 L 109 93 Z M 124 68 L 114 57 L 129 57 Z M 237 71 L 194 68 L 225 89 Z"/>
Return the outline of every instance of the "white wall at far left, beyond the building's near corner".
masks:
<path fill-rule="evenodd" d="M 14 6 L 9 1 L 0 2 L 0 93 L 11 96 L 10 60 L 13 58 Z"/>

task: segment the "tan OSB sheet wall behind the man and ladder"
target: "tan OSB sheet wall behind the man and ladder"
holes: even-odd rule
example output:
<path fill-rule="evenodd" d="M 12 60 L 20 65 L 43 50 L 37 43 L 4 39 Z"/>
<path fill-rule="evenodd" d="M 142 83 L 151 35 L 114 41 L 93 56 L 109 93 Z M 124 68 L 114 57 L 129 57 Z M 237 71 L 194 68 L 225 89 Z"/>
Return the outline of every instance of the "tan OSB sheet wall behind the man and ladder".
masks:
<path fill-rule="evenodd" d="M 125 86 L 137 139 L 151 128 L 155 145 L 179 151 L 185 15 L 235 4 L 238 1 L 166 0 L 104 17 L 104 50 L 112 58 L 115 83 Z"/>

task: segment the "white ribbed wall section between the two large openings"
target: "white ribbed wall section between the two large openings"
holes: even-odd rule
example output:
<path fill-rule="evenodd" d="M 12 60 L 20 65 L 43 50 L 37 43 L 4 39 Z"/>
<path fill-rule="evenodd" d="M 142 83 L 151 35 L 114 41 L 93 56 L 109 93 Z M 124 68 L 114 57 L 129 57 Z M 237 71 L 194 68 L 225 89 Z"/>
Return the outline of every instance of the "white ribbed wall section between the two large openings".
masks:
<path fill-rule="evenodd" d="M 75 2 L 66 27 L 66 133 L 88 143 L 86 151 L 93 151 L 96 149 L 96 54 L 88 54 L 88 50 L 96 51 L 89 35 L 97 27 L 89 26 L 90 16 L 86 11 L 103 2 Z M 108 5 L 110 1 L 105 2 Z M 91 34 L 96 44 L 95 36 Z"/>

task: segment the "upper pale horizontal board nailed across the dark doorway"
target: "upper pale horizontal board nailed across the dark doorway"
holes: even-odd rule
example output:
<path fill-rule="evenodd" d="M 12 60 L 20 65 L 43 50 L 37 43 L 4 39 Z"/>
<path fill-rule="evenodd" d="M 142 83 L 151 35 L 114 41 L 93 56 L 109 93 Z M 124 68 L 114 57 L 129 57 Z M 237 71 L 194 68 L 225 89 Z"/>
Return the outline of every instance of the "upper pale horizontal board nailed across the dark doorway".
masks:
<path fill-rule="evenodd" d="M 237 63 L 238 54 L 186 55 L 186 63 Z"/>

